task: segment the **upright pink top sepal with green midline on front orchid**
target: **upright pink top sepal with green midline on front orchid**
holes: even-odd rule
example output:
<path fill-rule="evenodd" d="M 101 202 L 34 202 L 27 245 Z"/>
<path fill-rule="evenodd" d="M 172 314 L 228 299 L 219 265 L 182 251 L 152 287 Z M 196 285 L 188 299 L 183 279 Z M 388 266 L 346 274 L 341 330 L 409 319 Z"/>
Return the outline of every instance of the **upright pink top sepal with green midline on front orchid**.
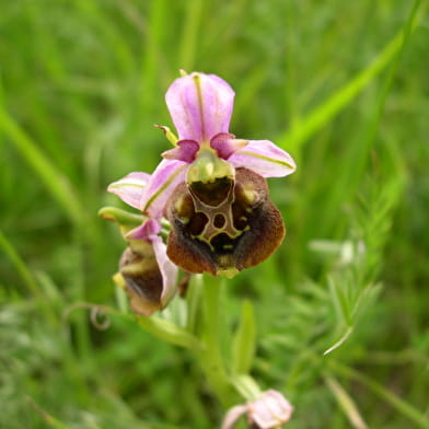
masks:
<path fill-rule="evenodd" d="M 194 72 L 171 84 L 165 102 L 179 139 L 204 142 L 228 132 L 234 91 L 215 74 Z"/>

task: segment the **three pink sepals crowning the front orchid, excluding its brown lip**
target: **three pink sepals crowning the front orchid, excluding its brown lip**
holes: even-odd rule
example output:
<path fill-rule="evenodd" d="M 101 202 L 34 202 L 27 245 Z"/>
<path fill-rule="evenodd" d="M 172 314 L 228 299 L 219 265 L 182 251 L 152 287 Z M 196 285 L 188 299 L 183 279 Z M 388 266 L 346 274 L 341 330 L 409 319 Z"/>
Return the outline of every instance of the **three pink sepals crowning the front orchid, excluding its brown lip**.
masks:
<path fill-rule="evenodd" d="M 234 169 L 245 167 L 263 177 L 281 177 L 295 171 L 289 153 L 271 141 L 235 139 L 229 134 L 234 91 L 219 77 L 199 72 L 183 76 L 169 88 L 165 102 L 178 141 L 176 148 L 162 154 L 164 161 L 140 201 L 143 212 L 161 215 L 174 188 L 186 181 L 189 165 L 207 152 Z"/>

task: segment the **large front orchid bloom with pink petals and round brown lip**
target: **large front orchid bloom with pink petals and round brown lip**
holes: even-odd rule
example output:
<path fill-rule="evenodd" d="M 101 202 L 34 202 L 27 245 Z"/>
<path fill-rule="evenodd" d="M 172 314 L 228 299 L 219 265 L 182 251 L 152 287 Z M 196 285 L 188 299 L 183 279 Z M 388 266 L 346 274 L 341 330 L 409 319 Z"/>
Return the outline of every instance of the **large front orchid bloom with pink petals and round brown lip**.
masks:
<path fill-rule="evenodd" d="M 162 153 L 152 175 L 131 173 L 108 190 L 151 221 L 170 221 L 166 254 L 174 264 L 233 277 L 281 243 L 285 227 L 265 177 L 293 173 L 294 161 L 269 140 L 229 132 L 234 92 L 217 76 L 183 76 L 165 101 L 178 134 L 175 147 Z M 127 236 L 148 240 L 147 224 Z"/>

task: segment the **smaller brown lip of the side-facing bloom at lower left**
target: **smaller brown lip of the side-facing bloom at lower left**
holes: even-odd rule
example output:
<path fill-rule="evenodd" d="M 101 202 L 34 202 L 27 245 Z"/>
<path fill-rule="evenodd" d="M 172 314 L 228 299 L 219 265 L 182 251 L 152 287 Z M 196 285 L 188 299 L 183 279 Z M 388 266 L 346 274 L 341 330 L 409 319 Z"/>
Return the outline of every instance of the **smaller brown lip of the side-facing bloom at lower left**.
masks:
<path fill-rule="evenodd" d="M 137 250 L 127 247 L 119 270 L 132 311 L 149 316 L 161 309 L 162 275 L 150 243 L 141 241 Z"/>

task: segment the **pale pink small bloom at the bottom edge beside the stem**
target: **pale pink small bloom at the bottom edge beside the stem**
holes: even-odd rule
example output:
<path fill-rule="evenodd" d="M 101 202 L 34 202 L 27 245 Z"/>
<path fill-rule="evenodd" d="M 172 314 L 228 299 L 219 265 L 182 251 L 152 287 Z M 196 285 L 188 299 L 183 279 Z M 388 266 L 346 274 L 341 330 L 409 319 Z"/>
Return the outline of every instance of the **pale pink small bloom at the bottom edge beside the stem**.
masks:
<path fill-rule="evenodd" d="M 243 415 L 247 415 L 250 425 L 257 429 L 280 428 L 290 420 L 292 411 L 293 407 L 280 392 L 269 390 L 253 402 L 232 407 L 227 413 L 222 429 L 232 429 Z"/>

